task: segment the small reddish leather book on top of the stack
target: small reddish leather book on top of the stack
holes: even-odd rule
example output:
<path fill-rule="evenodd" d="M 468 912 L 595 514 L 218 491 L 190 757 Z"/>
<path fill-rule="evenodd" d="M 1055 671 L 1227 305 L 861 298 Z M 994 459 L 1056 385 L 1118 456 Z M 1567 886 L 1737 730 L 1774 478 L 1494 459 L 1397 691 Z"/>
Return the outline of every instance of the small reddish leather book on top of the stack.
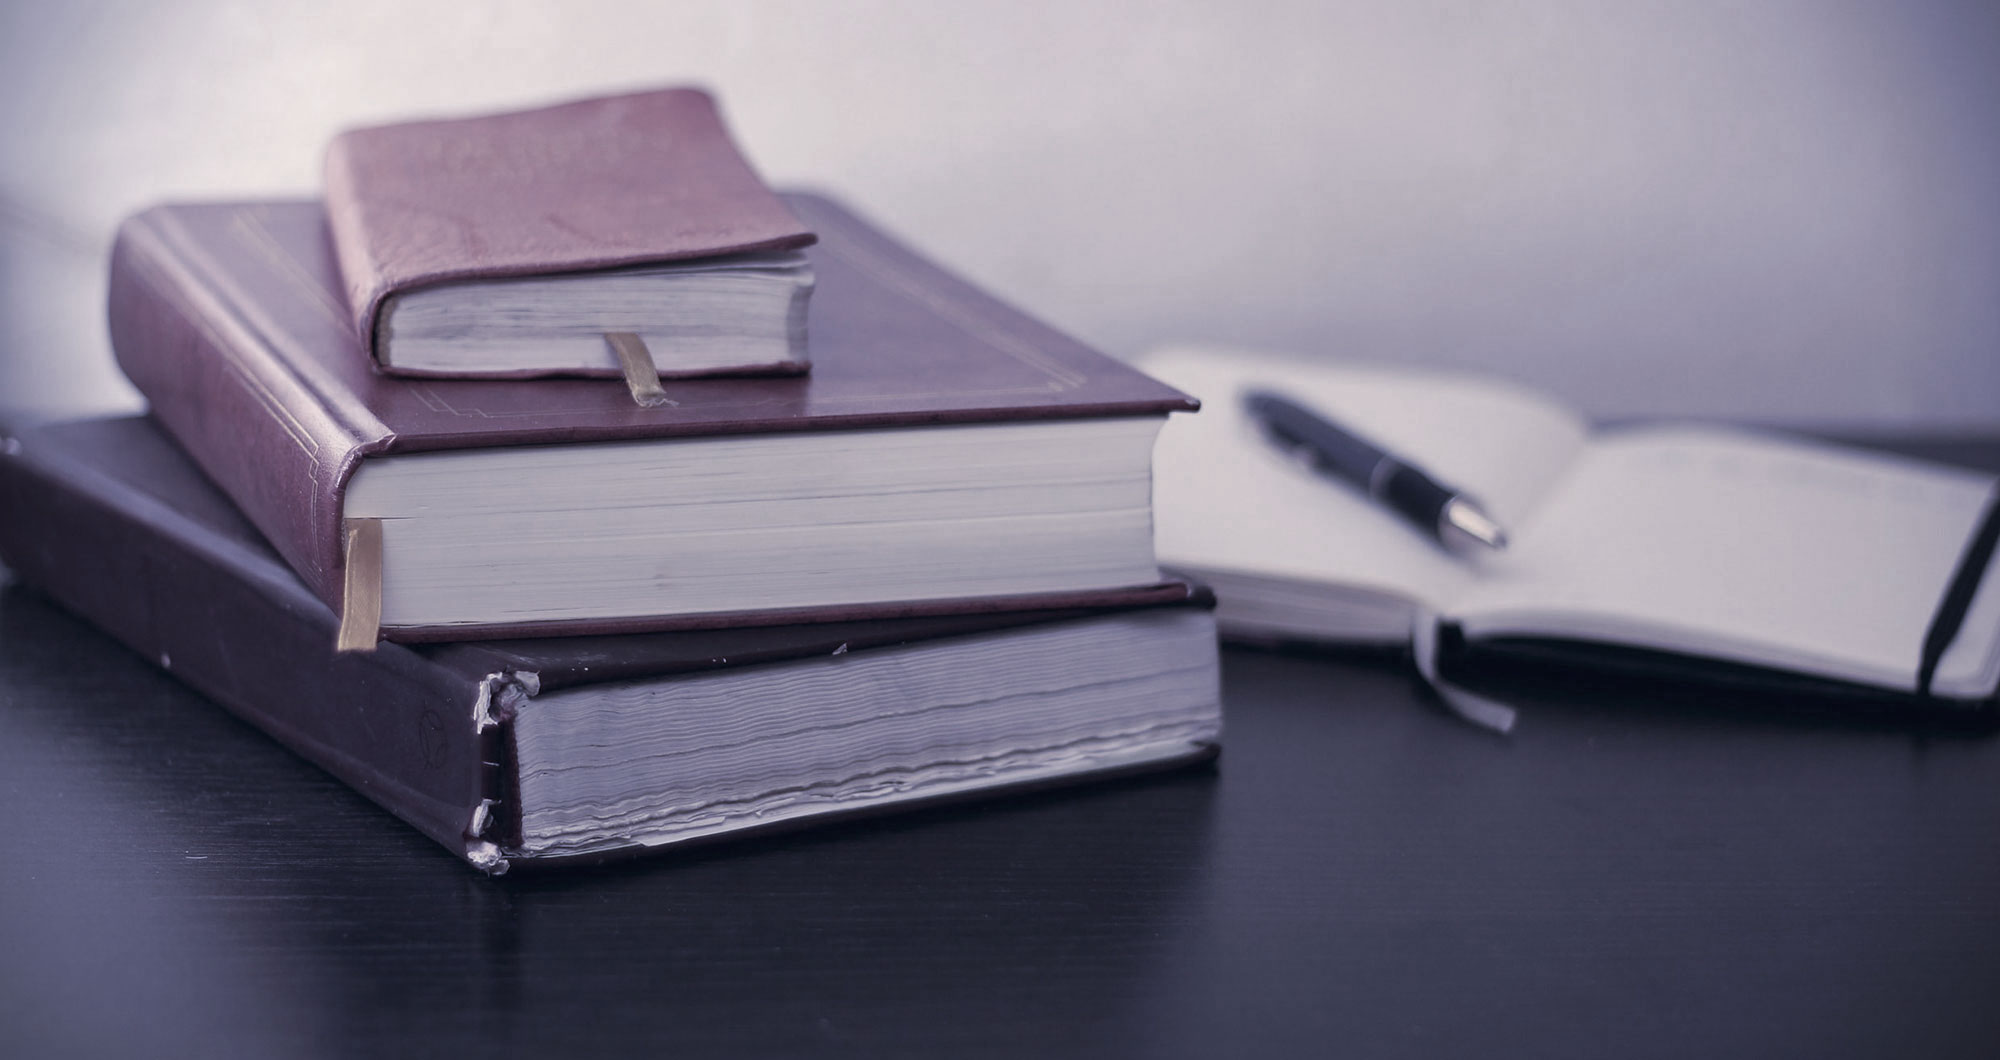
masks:
<path fill-rule="evenodd" d="M 356 334 L 388 372 L 802 372 L 812 232 L 692 88 L 356 128 L 326 152 Z"/>

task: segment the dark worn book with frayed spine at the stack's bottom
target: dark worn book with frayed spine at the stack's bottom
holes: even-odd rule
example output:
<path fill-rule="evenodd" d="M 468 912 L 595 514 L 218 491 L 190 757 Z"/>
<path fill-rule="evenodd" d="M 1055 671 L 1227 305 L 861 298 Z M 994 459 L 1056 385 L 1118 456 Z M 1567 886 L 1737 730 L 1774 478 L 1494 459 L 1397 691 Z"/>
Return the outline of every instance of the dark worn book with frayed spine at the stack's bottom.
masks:
<path fill-rule="evenodd" d="M 0 424 L 0 560 L 486 872 L 1164 768 L 1220 738 L 1204 594 L 342 654 L 326 604 L 144 418 Z"/>

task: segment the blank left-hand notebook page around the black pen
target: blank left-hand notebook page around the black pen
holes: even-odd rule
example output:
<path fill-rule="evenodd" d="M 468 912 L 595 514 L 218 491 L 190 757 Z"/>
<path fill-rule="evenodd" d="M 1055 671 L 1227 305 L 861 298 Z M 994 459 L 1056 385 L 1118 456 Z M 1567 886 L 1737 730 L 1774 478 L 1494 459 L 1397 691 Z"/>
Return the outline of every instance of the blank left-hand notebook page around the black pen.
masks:
<path fill-rule="evenodd" d="M 1154 450 L 1156 552 L 1170 566 L 1368 586 L 1428 606 L 1476 568 L 1266 442 L 1242 408 L 1248 390 L 1286 394 L 1416 460 L 1502 524 L 1532 510 L 1584 444 L 1582 420 L 1490 380 L 1174 350 L 1142 368 L 1202 400 L 1198 416 L 1168 420 Z"/>

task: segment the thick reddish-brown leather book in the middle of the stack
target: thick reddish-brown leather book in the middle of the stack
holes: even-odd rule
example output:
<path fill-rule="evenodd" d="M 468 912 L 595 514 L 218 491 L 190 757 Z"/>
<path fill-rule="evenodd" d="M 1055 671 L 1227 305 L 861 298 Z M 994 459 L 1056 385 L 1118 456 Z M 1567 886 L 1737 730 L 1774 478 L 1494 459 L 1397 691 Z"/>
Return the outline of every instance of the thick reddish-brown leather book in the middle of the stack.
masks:
<path fill-rule="evenodd" d="M 1150 454 L 1192 398 L 824 198 L 788 204 L 822 236 L 812 374 L 688 380 L 658 408 L 590 380 L 376 372 L 314 202 L 130 218 L 112 344 L 154 416 L 336 610 L 344 532 L 380 524 L 390 640 L 1180 592 L 1152 560 Z"/>

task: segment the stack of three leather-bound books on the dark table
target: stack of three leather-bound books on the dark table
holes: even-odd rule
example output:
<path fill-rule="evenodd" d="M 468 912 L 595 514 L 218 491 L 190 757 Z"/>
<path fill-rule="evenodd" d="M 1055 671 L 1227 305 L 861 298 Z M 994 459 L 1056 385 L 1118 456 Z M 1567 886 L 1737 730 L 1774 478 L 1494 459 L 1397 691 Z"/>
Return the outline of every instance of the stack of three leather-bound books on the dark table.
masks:
<path fill-rule="evenodd" d="M 146 210 L 110 324 L 152 418 L 8 430 L 0 558 L 488 872 L 1216 754 L 1152 552 L 1194 402 L 698 92 Z"/>

